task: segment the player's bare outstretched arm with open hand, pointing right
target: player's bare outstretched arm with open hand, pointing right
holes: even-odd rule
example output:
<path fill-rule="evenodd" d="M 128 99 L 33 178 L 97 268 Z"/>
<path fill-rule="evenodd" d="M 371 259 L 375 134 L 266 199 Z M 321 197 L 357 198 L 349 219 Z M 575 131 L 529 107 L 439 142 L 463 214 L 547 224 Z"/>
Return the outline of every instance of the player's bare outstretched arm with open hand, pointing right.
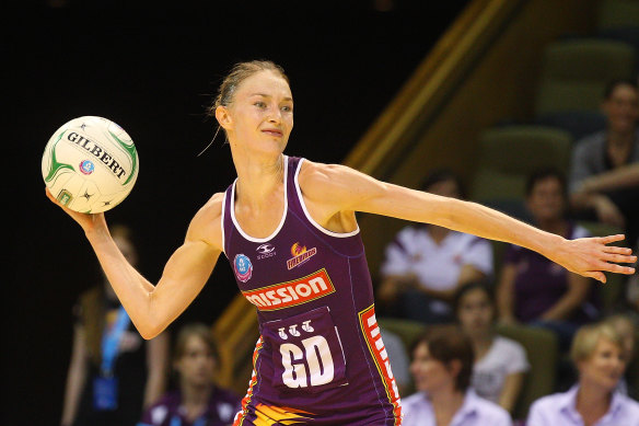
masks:
<path fill-rule="evenodd" d="M 300 185 L 321 224 L 334 223 L 336 218 L 355 221 L 355 211 L 363 211 L 516 244 L 602 283 L 606 280 L 604 272 L 635 272 L 617 265 L 636 262 L 630 249 L 606 245 L 624 235 L 566 240 L 483 205 L 381 182 L 344 165 L 309 162 L 300 174 Z"/>

